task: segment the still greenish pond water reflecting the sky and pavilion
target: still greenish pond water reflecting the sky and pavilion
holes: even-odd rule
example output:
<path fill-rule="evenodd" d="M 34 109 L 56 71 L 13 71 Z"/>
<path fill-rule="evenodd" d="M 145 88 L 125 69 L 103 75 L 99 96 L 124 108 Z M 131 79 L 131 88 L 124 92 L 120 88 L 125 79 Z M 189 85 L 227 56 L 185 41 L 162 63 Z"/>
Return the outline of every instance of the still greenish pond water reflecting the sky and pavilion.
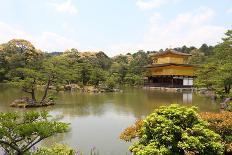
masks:
<path fill-rule="evenodd" d="M 20 90 L 0 85 L 0 111 L 25 111 L 9 107 L 11 101 L 21 96 L 25 94 Z M 126 155 L 130 144 L 119 140 L 120 132 L 159 106 L 172 103 L 194 105 L 199 111 L 218 111 L 219 107 L 210 98 L 190 92 L 133 88 L 103 94 L 59 92 L 55 106 L 33 110 L 48 110 L 58 120 L 71 123 L 70 132 L 49 138 L 42 145 L 64 143 L 84 155 L 90 155 L 91 148 L 96 148 L 100 155 Z"/>

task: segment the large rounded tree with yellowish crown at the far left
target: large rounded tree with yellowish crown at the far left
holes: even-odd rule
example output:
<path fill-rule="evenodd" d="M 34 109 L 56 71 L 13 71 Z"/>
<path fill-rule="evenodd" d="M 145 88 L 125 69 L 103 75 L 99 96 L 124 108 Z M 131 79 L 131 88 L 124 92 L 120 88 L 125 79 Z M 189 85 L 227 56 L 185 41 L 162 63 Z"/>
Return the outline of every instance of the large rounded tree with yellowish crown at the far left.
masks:
<path fill-rule="evenodd" d="M 16 68 L 39 66 L 42 59 L 42 52 L 35 49 L 29 41 L 12 39 L 0 45 L 0 79 L 7 79 L 7 74 Z"/>

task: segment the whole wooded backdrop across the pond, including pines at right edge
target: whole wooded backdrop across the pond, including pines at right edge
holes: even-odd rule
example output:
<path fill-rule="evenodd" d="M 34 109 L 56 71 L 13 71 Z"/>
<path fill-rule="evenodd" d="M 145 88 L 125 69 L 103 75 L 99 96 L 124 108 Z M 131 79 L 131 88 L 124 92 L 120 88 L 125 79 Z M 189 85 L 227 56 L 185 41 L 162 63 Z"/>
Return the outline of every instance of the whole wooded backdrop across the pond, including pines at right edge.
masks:
<path fill-rule="evenodd" d="M 215 75 L 232 72 L 231 31 L 228 30 L 226 37 L 222 39 L 223 42 L 215 46 L 203 44 L 200 48 L 194 46 L 173 48 L 179 52 L 192 54 L 188 63 L 201 66 L 197 74 L 200 77 L 198 79 L 202 80 L 197 81 L 198 85 L 215 90 L 220 88 L 220 91 L 230 93 L 231 74 L 223 76 L 226 79 L 221 79 L 220 83 L 217 84 L 215 83 L 217 81 Z M 52 62 L 51 64 L 57 69 L 57 74 L 59 72 L 59 77 L 62 77 L 61 81 L 56 81 L 59 85 L 77 83 L 96 87 L 106 85 L 110 88 L 117 85 L 141 85 L 143 84 L 143 66 L 152 63 L 151 54 L 162 51 L 165 50 L 139 50 L 133 54 L 127 53 L 112 58 L 102 51 L 79 52 L 75 48 L 64 52 L 47 53 L 36 49 L 27 40 L 13 39 L 0 45 L 0 81 L 25 79 L 23 73 L 19 71 L 20 68 L 43 73 L 44 68 L 49 67 L 48 62 Z M 207 70 L 207 67 L 211 67 L 210 70 Z M 202 78 L 204 75 L 207 77 Z M 214 79 L 209 79 L 210 77 L 214 77 Z M 220 77 L 216 79 L 220 79 Z"/>

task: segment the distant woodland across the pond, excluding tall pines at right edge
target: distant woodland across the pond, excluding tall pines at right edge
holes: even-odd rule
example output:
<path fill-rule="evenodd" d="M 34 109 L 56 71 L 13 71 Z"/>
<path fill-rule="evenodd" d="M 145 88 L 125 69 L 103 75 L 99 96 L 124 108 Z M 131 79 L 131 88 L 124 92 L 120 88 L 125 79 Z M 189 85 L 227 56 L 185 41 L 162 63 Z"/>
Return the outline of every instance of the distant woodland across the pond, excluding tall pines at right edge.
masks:
<path fill-rule="evenodd" d="M 203 44 L 196 47 L 174 48 L 179 52 L 192 53 L 190 63 L 201 63 L 204 56 L 209 56 L 214 47 Z M 162 49 L 160 52 L 163 51 Z M 107 83 L 111 87 L 117 84 L 141 85 L 143 80 L 143 66 L 152 63 L 150 54 L 158 51 L 143 51 L 126 55 L 108 57 L 104 52 L 79 52 L 73 48 L 64 52 L 42 52 L 36 49 L 29 41 L 13 39 L 0 45 L 0 81 L 9 81 L 15 75 L 17 68 L 39 67 L 39 62 L 48 59 L 58 59 L 66 77 L 66 83 L 79 83 L 82 85 L 99 85 Z M 198 59 L 199 56 L 202 56 Z M 195 60 L 197 57 L 197 60 Z M 58 63 L 58 62 L 57 62 Z M 36 68 L 36 67 L 35 67 Z M 69 71 L 68 73 L 66 71 Z"/>

